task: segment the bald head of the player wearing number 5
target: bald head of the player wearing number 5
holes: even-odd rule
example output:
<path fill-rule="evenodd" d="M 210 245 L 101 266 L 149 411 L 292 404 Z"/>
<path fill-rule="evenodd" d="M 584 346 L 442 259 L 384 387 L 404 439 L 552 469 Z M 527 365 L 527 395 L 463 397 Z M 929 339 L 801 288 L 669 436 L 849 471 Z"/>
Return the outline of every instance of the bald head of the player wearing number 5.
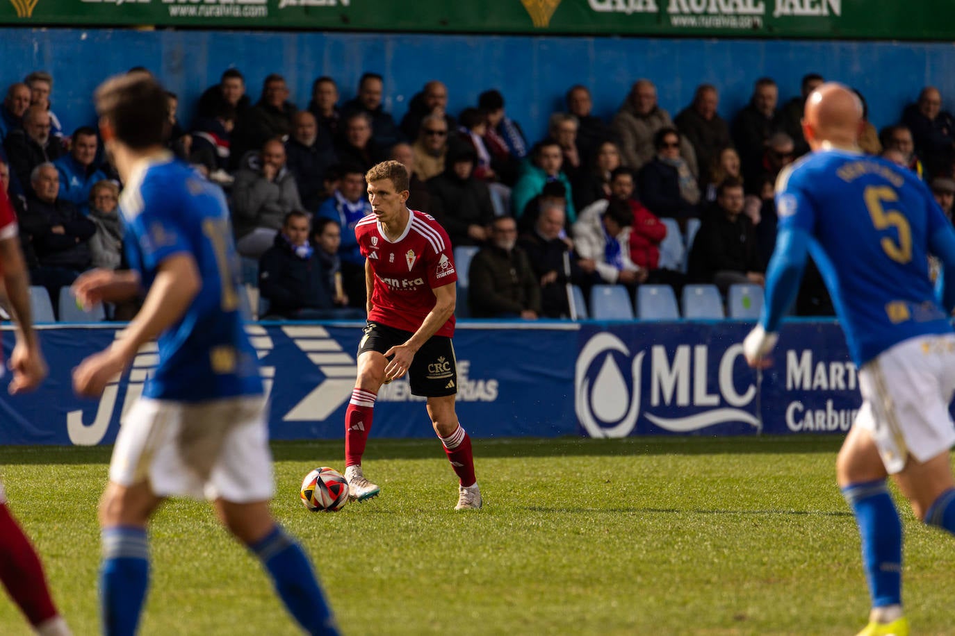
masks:
<path fill-rule="evenodd" d="M 859 96 L 837 82 L 821 85 L 806 99 L 802 129 L 814 151 L 823 142 L 849 148 L 858 146 L 862 129 Z"/>

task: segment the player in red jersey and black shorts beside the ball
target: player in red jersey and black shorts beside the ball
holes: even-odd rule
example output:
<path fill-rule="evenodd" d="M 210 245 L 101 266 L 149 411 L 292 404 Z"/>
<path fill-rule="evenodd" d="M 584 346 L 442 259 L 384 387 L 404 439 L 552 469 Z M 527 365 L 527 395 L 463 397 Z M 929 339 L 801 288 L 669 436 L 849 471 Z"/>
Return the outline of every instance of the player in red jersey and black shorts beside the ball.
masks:
<path fill-rule="evenodd" d="M 381 491 L 365 479 L 361 458 L 378 390 L 408 374 L 414 395 L 428 399 L 428 416 L 460 480 L 456 510 L 481 507 L 471 438 L 455 413 L 455 261 L 437 221 L 409 210 L 408 171 L 385 161 L 365 174 L 371 215 L 355 236 L 365 256 L 368 326 L 358 345 L 358 377 L 345 413 L 345 477 L 352 499 Z"/>

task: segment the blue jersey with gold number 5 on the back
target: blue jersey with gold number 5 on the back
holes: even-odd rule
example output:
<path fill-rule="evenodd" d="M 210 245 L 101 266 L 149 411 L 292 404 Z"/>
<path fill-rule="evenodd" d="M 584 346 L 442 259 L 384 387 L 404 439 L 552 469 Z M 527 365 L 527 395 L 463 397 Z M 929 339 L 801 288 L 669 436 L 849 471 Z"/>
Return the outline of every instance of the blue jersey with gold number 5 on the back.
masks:
<path fill-rule="evenodd" d="M 811 236 L 853 360 L 904 339 L 950 332 L 928 276 L 929 240 L 949 225 L 923 182 L 878 157 L 810 154 L 776 184 L 780 234 Z"/>

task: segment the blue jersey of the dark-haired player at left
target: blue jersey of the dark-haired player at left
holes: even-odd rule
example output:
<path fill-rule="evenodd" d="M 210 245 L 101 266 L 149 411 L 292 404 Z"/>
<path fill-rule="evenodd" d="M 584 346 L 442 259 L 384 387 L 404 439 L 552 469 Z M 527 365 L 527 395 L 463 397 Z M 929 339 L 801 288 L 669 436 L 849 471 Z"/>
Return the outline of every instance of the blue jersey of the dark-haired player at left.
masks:
<path fill-rule="evenodd" d="M 171 155 L 140 164 L 119 209 L 125 250 L 147 289 L 159 264 L 188 254 L 202 289 L 185 314 L 159 336 L 159 364 L 143 395 L 204 401 L 261 394 L 255 350 L 239 303 L 239 264 L 222 190 Z"/>

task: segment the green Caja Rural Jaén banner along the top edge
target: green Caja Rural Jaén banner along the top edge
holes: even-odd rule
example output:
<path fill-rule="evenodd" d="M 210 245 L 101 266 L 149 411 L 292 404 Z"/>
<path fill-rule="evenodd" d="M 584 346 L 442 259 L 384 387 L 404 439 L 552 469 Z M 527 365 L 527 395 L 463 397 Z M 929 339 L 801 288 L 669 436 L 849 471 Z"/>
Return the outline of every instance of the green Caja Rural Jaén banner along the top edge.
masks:
<path fill-rule="evenodd" d="M 955 39 L 951 0 L 0 0 L 0 24 Z"/>

